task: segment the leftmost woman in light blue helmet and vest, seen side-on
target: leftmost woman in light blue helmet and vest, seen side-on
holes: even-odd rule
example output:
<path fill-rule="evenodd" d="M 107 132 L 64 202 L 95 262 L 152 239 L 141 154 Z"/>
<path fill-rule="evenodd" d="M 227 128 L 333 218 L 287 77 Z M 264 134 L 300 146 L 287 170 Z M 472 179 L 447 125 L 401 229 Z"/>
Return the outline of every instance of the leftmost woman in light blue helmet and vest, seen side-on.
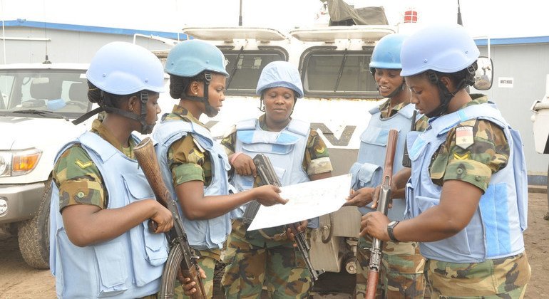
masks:
<path fill-rule="evenodd" d="M 53 167 L 50 268 L 58 298 L 143 298 L 160 285 L 173 226 L 170 211 L 155 201 L 133 147 L 133 131 L 148 134 L 163 91 L 162 64 L 131 43 L 103 46 L 88 72 L 88 99 L 98 103 L 86 119 L 90 132 L 63 147 Z M 158 224 L 157 234 L 147 229 Z"/>

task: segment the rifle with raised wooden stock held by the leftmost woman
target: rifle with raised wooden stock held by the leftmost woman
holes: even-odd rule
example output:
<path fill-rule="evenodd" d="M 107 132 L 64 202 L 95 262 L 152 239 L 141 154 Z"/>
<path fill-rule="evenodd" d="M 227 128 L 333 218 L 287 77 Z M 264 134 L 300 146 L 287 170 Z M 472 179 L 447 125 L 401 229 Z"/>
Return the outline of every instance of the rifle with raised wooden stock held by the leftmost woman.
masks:
<path fill-rule="evenodd" d="M 135 153 L 135 157 L 137 158 L 141 169 L 143 169 L 143 173 L 145 174 L 150 187 L 153 189 L 156 200 L 165 206 L 166 209 L 170 210 L 173 217 L 173 228 L 167 234 L 167 237 L 170 239 L 170 243 L 172 243 L 173 246 L 170 249 L 170 256 L 168 257 L 168 262 L 163 271 L 160 298 L 173 297 L 173 287 L 165 288 L 165 285 L 168 284 L 173 286 L 178 268 L 180 267 L 183 272 L 183 277 L 190 278 L 191 281 L 196 283 L 195 288 L 197 292 L 193 293 L 190 298 L 206 299 L 204 285 L 202 284 L 202 280 L 200 280 L 200 274 L 198 272 L 196 257 L 193 256 L 193 251 L 190 249 L 178 207 L 176 206 L 170 191 L 166 188 L 162 175 L 160 174 L 160 166 L 158 165 L 155 148 L 153 147 L 153 142 L 150 140 L 150 137 L 146 137 L 140 142 L 139 145 L 133 149 L 133 152 Z M 154 232 L 157 224 L 150 220 L 148 226 L 149 230 Z M 174 238 L 170 238 L 170 236 L 174 236 Z M 174 258 L 174 256 L 177 256 L 177 258 Z M 173 263 L 175 263 L 175 265 L 173 265 Z M 168 269 L 170 269 L 170 271 L 167 271 Z"/>

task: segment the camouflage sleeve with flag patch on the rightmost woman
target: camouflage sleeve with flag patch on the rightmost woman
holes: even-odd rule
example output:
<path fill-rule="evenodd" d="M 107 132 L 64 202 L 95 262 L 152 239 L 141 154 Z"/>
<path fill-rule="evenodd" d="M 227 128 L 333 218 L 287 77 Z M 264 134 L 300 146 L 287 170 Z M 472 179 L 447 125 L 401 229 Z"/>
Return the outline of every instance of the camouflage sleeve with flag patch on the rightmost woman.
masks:
<path fill-rule="evenodd" d="M 492 174 L 506 167 L 509 152 L 505 133 L 498 125 L 488 120 L 461 122 L 448 132 L 431 162 L 431 179 L 439 186 L 448 179 L 458 179 L 484 192 Z"/>

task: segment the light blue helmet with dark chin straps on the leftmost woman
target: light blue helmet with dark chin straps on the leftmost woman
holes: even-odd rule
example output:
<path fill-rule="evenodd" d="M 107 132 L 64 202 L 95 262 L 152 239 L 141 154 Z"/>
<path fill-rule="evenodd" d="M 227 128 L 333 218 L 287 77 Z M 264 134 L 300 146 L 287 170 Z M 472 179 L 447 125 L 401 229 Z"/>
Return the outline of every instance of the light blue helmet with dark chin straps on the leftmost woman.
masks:
<path fill-rule="evenodd" d="M 145 105 L 150 90 L 154 93 L 164 91 L 164 70 L 158 58 L 147 49 L 115 41 L 101 47 L 91 59 L 86 72 L 88 81 L 102 90 L 113 95 L 132 95 L 140 93 L 141 114 L 135 115 L 114 107 L 104 93 L 101 93 L 99 108 L 92 110 L 77 120 L 75 124 L 87 120 L 92 115 L 105 110 L 114 112 L 132 120 L 138 120 L 142 125 L 142 132 L 152 130 L 152 126 L 145 122 L 147 110 Z"/>

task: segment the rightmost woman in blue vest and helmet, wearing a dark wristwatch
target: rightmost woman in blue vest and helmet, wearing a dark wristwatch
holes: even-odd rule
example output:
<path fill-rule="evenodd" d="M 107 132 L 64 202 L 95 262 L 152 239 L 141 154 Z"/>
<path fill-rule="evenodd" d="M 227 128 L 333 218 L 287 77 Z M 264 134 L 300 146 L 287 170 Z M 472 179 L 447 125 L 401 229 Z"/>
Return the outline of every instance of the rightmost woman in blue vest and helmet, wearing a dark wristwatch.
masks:
<path fill-rule="evenodd" d="M 522 298 L 528 193 L 522 142 L 486 96 L 469 95 L 478 48 L 461 26 L 406 39 L 401 63 L 411 103 L 430 117 L 410 132 L 407 218 L 363 216 L 361 234 L 420 241 L 431 298 Z M 401 172 L 393 182 L 402 187 Z"/>

